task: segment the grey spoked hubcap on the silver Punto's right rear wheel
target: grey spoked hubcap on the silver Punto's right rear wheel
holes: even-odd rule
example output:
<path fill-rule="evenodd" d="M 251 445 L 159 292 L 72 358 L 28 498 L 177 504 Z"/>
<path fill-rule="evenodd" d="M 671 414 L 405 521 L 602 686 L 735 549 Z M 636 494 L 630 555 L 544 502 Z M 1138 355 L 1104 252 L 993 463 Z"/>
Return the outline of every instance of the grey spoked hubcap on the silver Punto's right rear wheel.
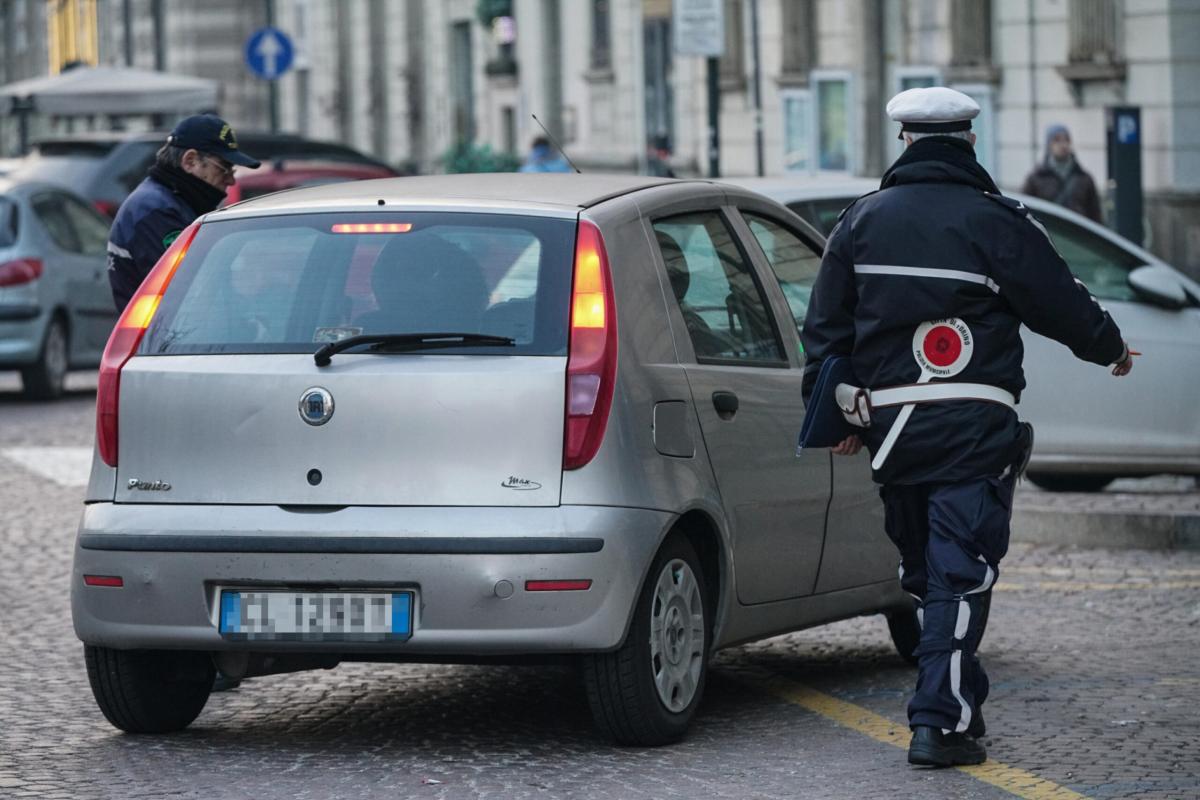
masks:
<path fill-rule="evenodd" d="M 704 663 L 704 601 L 696 575 L 683 559 L 664 565 L 650 604 L 650 670 L 668 711 L 688 708 Z"/>

